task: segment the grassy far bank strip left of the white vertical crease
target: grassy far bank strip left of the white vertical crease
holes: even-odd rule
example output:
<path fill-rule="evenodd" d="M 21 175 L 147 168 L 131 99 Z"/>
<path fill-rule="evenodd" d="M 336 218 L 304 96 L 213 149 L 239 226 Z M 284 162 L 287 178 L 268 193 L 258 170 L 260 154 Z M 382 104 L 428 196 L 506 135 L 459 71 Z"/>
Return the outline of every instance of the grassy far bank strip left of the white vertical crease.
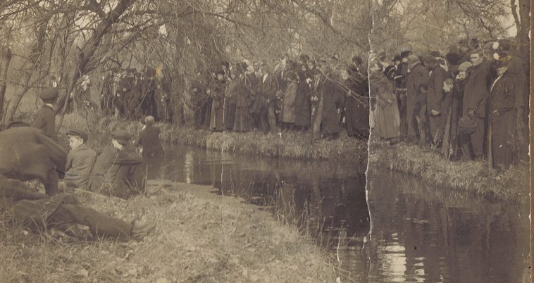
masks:
<path fill-rule="evenodd" d="M 313 141 L 309 132 L 211 132 L 194 127 L 156 123 L 161 129 L 161 139 L 175 144 L 199 146 L 217 151 L 250 153 L 256 156 L 302 159 L 333 159 L 344 162 L 366 162 L 367 142 L 348 137 L 345 132 L 339 139 Z M 134 137 L 141 130 L 139 122 L 89 114 L 65 115 L 61 133 L 71 127 L 81 127 L 89 132 L 108 135 L 116 129 L 128 130 Z"/>

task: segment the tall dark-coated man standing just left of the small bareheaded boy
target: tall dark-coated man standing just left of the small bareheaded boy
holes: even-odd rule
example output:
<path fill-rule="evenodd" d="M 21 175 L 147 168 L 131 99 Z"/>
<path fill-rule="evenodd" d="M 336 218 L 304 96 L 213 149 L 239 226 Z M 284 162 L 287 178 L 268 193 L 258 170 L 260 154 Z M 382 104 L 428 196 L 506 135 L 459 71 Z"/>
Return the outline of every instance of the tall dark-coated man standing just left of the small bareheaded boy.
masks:
<path fill-rule="evenodd" d="M 440 64 L 441 59 L 437 59 L 434 56 L 428 57 L 428 70 L 430 73 L 430 79 L 428 80 L 428 92 L 426 93 L 426 109 L 428 112 L 428 126 L 430 129 L 430 136 L 432 142 L 437 144 L 438 139 L 442 138 L 440 130 L 441 120 L 445 120 L 442 117 L 441 108 L 445 99 L 445 93 L 443 92 L 443 82 L 447 79 L 447 70 Z"/>

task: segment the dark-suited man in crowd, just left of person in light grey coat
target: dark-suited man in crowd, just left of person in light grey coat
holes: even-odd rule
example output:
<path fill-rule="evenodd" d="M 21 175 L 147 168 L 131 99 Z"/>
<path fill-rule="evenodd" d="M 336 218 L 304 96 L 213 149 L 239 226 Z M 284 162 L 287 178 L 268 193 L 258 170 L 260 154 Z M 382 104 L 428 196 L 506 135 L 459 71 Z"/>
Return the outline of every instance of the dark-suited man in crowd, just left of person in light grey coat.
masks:
<path fill-rule="evenodd" d="M 271 68 L 267 64 L 261 66 L 261 75 L 252 113 L 259 116 L 263 132 L 277 133 L 280 131 L 275 118 L 276 95 L 280 89 L 278 80 L 271 74 Z"/>

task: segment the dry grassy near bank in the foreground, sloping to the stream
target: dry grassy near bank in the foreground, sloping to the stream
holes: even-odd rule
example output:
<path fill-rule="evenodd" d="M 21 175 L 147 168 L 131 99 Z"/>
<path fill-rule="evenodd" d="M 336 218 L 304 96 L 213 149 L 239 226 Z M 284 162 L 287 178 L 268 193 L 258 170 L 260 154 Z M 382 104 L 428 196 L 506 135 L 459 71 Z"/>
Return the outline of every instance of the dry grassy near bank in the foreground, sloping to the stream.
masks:
<path fill-rule="evenodd" d="M 160 215 L 156 230 L 141 242 L 80 241 L 0 221 L 2 280 L 335 282 L 339 276 L 325 253 L 303 241 L 297 229 L 238 199 L 191 184 L 151 184 L 150 191 L 149 197 L 129 201 L 75 191 L 82 203 L 114 217 Z"/>

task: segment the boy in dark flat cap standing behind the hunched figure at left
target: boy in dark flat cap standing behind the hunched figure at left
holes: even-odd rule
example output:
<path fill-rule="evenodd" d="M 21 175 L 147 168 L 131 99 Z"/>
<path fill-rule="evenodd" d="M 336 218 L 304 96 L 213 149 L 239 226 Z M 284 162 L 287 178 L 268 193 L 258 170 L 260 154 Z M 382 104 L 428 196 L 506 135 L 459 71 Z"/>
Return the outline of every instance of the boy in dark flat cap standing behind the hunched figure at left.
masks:
<path fill-rule="evenodd" d="M 35 118 L 32 122 L 32 127 L 42 130 L 46 137 L 54 139 L 56 142 L 58 137 L 56 135 L 56 112 L 54 111 L 54 103 L 56 103 L 57 97 L 57 88 L 49 87 L 44 89 L 39 94 L 39 99 L 43 101 L 44 105 L 35 113 Z"/>

